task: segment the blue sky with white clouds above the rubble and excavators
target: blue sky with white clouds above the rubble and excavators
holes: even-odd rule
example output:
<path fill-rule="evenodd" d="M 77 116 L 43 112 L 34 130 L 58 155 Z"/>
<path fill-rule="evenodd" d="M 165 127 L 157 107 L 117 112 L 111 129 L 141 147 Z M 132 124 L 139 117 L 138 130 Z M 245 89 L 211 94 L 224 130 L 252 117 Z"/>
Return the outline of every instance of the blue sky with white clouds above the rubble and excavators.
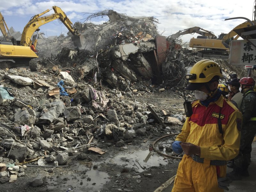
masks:
<path fill-rule="evenodd" d="M 190 27 L 201 27 L 214 32 L 218 36 L 221 32 L 228 33 L 245 20 L 228 20 L 231 17 L 246 17 L 252 19 L 254 0 L 232 0 L 232 1 L 205 1 L 205 0 L 73 0 L 73 1 L 45 1 L 45 0 L 10 0 L 8 3 L 0 0 L 0 12 L 10 28 L 16 31 L 23 31 L 29 19 L 52 6 L 60 7 L 75 23 L 83 22 L 85 12 L 95 13 L 105 9 L 113 9 L 119 13 L 126 13 L 129 16 L 154 16 L 161 24 L 158 24 L 159 33 L 169 36 Z M 53 11 L 45 15 L 52 14 Z M 99 17 L 92 22 L 101 24 L 108 21 L 108 17 Z M 47 36 L 67 34 L 67 28 L 54 20 L 40 27 L 40 32 Z M 0 32 L 1 34 L 1 32 Z M 195 35 L 184 35 L 183 41 L 189 41 Z"/>

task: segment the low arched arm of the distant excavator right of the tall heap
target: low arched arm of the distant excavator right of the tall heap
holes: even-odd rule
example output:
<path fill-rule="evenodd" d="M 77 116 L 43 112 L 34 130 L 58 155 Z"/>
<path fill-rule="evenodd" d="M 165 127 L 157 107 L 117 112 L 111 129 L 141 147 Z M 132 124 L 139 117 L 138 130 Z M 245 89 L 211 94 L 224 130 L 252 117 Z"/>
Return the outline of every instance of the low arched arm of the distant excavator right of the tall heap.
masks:
<path fill-rule="evenodd" d="M 178 39 L 182 35 L 194 34 L 194 33 L 197 33 L 201 36 L 207 36 L 209 39 L 217 39 L 217 37 L 214 35 L 213 32 L 205 30 L 200 27 L 191 27 L 191 28 L 183 29 L 183 30 L 178 31 L 175 34 L 172 34 L 171 36 L 168 36 L 167 38 Z M 198 36 L 198 38 L 200 38 L 201 36 Z"/>

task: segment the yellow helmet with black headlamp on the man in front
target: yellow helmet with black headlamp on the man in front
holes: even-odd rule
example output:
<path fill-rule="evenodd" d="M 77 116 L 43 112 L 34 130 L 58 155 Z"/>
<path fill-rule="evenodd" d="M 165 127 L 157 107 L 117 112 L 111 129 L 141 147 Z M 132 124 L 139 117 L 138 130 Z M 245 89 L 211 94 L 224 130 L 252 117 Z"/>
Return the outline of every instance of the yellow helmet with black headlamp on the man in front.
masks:
<path fill-rule="evenodd" d="M 185 89 L 196 90 L 211 81 L 214 76 L 222 77 L 220 66 L 216 62 L 208 59 L 198 61 L 192 67 L 190 74 L 185 76 L 190 83 Z"/>

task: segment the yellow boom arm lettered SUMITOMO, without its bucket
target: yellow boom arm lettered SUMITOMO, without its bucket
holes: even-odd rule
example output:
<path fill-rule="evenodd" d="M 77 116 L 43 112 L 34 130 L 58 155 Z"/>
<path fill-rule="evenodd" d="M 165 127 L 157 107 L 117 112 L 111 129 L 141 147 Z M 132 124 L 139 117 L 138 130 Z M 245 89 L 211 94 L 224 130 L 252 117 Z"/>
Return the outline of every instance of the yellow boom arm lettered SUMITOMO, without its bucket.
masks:
<path fill-rule="evenodd" d="M 55 13 L 43 16 L 45 13 L 49 12 L 50 9 L 47 9 L 46 11 L 35 15 L 31 18 L 31 20 L 28 22 L 28 24 L 24 27 L 20 45 L 21 46 L 29 46 L 31 44 L 31 37 L 33 33 L 42 25 L 49 23 L 53 20 L 60 19 L 60 21 L 68 28 L 68 30 L 72 33 L 74 36 L 80 36 L 78 30 L 73 26 L 73 23 L 68 19 L 67 15 L 57 6 L 53 6 L 52 9 Z"/>

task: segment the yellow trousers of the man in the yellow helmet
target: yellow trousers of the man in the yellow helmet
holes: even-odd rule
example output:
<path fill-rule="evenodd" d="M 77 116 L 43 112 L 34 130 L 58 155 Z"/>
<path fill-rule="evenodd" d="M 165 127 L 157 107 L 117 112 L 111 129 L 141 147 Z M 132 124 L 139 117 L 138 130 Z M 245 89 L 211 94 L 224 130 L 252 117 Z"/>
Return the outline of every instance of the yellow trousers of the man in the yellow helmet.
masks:
<path fill-rule="evenodd" d="M 219 166 L 220 177 L 226 176 L 226 165 Z M 184 155 L 180 161 L 172 192 L 223 192 L 218 187 L 217 171 L 210 160 L 204 163 L 193 161 L 191 156 Z"/>

